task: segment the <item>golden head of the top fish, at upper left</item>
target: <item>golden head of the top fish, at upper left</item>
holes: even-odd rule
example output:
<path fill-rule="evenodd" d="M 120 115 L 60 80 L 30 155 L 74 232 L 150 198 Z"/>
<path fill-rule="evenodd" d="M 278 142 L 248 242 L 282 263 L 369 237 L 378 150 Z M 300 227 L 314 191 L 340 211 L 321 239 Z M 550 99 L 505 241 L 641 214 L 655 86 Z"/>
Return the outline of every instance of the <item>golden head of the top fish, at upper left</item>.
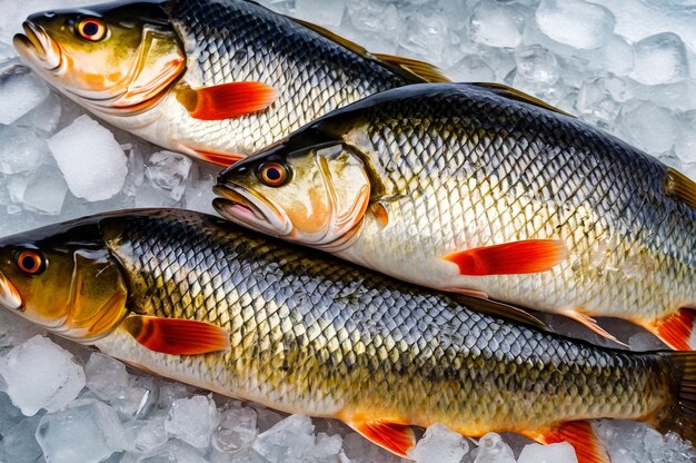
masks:
<path fill-rule="evenodd" d="M 30 16 L 13 43 L 66 96 L 100 115 L 141 112 L 182 75 L 186 53 L 158 3 L 108 3 Z"/>

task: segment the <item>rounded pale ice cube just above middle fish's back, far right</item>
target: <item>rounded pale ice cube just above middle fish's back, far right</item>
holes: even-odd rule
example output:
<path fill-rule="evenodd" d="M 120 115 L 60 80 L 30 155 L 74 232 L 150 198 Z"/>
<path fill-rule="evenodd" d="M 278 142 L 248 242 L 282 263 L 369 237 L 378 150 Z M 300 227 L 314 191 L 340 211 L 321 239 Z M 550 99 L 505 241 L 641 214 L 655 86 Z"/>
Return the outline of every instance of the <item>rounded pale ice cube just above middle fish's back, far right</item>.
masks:
<path fill-rule="evenodd" d="M 672 111 L 649 101 L 625 105 L 618 124 L 627 142 L 654 156 L 670 150 L 679 135 Z"/>

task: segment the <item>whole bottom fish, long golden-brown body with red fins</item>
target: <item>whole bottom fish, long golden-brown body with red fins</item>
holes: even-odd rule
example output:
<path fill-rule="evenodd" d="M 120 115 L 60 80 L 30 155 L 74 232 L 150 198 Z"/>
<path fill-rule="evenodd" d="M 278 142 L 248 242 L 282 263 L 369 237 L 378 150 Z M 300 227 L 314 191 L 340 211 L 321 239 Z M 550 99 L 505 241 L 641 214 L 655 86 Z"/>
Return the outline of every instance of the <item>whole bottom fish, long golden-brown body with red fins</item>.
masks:
<path fill-rule="evenodd" d="M 589 418 L 696 437 L 696 354 L 593 346 L 463 301 L 181 210 L 0 239 L 3 307 L 160 375 L 342 420 L 399 455 L 411 425 L 434 423 L 568 440 L 583 462 L 608 461 Z"/>

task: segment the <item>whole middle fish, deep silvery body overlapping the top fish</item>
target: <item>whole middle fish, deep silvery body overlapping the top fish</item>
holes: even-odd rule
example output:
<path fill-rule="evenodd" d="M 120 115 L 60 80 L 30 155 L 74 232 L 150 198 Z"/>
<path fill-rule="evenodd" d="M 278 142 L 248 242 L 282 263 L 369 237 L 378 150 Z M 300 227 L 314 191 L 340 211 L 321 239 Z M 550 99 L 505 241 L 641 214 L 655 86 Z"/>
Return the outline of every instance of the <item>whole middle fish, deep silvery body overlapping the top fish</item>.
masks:
<path fill-rule="evenodd" d="M 231 221 L 430 288 L 696 346 L 696 185 L 501 85 L 338 109 L 223 170 Z"/>

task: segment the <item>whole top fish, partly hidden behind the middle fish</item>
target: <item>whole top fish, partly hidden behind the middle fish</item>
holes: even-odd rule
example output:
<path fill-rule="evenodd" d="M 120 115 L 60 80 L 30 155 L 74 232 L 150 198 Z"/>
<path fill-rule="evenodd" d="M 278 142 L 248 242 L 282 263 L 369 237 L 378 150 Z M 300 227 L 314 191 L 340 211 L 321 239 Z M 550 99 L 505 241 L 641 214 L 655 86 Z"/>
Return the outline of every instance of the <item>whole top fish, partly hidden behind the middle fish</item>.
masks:
<path fill-rule="evenodd" d="M 13 43 L 60 92 L 156 145 L 229 166 L 338 107 L 443 81 L 245 0 L 107 3 L 30 16 Z"/>

